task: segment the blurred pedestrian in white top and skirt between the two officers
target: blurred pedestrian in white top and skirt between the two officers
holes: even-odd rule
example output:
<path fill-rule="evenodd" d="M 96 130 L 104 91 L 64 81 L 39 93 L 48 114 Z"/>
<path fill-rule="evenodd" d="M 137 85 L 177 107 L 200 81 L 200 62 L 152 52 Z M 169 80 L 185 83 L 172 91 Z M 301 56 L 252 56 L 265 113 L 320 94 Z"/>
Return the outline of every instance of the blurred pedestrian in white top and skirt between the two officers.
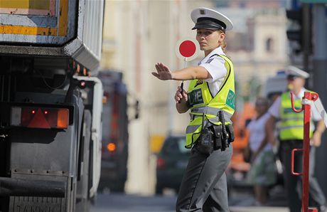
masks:
<path fill-rule="evenodd" d="M 276 183 L 274 152 L 264 129 L 269 118 L 268 107 L 268 100 L 258 97 L 255 101 L 257 115 L 247 125 L 250 132 L 248 148 L 252 152 L 247 181 L 253 185 L 256 206 L 267 203 L 268 187 Z"/>

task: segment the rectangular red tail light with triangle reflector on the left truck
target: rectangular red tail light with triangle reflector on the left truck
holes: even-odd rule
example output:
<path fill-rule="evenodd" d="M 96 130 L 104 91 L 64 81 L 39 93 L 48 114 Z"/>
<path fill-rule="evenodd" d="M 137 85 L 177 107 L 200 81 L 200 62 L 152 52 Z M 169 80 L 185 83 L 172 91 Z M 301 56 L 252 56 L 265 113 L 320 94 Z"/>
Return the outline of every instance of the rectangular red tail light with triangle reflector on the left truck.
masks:
<path fill-rule="evenodd" d="M 42 129 L 67 129 L 69 110 L 66 108 L 11 107 L 11 125 Z"/>

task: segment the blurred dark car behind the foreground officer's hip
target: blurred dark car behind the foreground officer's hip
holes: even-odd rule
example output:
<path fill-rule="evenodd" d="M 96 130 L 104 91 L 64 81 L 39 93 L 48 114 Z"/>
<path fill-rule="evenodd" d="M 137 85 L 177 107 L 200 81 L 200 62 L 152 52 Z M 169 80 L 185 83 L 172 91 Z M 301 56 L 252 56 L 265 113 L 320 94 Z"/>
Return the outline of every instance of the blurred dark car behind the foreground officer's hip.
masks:
<path fill-rule="evenodd" d="M 156 194 L 162 194 L 165 188 L 178 192 L 191 149 L 186 149 L 186 137 L 168 136 L 157 157 Z"/>

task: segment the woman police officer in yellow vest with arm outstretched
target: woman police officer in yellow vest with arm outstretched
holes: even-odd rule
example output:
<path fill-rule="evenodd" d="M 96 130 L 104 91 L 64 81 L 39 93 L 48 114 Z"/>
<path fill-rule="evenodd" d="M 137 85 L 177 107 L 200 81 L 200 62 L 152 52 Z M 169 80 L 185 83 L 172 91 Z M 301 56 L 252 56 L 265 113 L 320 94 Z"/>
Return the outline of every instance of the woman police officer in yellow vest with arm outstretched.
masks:
<path fill-rule="evenodd" d="M 173 72 L 157 63 L 157 72 L 152 73 L 159 80 L 191 80 L 187 93 L 178 87 L 175 95 L 179 113 L 191 109 L 186 148 L 192 148 L 176 211 L 229 211 L 225 169 L 232 156 L 230 117 L 235 110 L 235 88 L 232 61 L 222 47 L 232 22 L 206 8 L 194 9 L 191 18 L 205 58 L 196 67 Z"/>

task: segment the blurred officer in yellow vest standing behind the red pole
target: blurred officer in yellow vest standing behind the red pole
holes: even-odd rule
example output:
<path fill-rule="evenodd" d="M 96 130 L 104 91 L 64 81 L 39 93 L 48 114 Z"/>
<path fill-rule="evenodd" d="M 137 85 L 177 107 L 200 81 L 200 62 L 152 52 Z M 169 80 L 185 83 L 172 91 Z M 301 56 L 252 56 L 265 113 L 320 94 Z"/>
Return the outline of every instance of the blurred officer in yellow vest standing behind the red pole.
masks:
<path fill-rule="evenodd" d="M 294 92 L 294 107 L 301 108 L 302 97 L 304 92 L 309 91 L 304 88 L 306 78 L 309 73 L 304 70 L 289 66 L 286 68 L 286 75 L 289 84 L 289 90 Z M 284 184 L 291 212 L 301 211 L 301 176 L 291 174 L 291 150 L 303 147 L 304 139 L 304 113 L 296 113 L 291 107 L 291 96 L 289 91 L 282 93 L 277 98 L 272 107 L 269 108 L 269 120 L 266 128 L 269 142 L 274 142 L 274 123 L 280 119 L 279 124 L 279 141 L 280 155 L 284 168 Z M 311 206 L 318 207 L 318 211 L 326 211 L 326 198 L 321 191 L 318 181 L 314 177 L 315 151 L 316 147 L 321 144 L 321 134 L 325 131 L 325 125 L 316 107 L 311 107 L 311 122 L 316 121 L 316 128 L 311 123 L 310 137 L 310 162 L 309 162 L 309 196 L 313 200 Z M 294 157 L 294 171 L 301 172 L 302 156 L 296 154 Z"/>

